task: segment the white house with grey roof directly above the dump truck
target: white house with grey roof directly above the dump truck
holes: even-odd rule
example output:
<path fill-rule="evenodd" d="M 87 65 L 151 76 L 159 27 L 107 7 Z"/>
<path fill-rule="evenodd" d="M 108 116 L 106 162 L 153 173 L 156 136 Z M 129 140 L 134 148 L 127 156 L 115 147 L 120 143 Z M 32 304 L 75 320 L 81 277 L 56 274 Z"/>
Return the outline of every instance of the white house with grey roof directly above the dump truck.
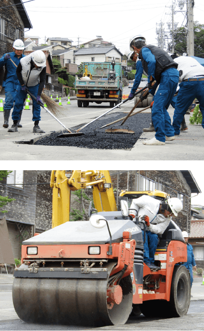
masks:
<path fill-rule="evenodd" d="M 115 46 L 83 47 L 74 52 L 74 56 L 77 65 L 81 62 L 111 62 L 113 57 L 116 63 L 120 63 L 122 53 Z"/>

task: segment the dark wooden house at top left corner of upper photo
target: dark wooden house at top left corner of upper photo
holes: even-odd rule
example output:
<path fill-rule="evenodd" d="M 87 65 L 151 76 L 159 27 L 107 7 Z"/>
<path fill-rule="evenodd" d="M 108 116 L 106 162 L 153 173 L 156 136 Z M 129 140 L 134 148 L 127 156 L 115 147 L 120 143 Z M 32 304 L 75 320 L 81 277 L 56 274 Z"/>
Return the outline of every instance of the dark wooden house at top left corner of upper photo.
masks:
<path fill-rule="evenodd" d="M 24 40 L 24 28 L 31 29 L 22 0 L 0 1 L 0 57 L 12 52 L 15 39 Z"/>

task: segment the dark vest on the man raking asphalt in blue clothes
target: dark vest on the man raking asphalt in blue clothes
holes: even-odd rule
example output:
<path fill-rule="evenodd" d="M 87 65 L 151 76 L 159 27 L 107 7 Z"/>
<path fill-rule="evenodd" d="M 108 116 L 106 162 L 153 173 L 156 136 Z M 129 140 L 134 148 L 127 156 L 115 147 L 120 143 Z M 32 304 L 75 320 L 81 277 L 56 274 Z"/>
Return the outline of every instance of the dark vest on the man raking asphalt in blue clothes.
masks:
<path fill-rule="evenodd" d="M 154 78 L 157 81 L 157 83 L 160 82 L 161 80 L 161 73 L 165 71 L 166 69 L 169 68 L 177 68 L 178 64 L 173 61 L 173 59 L 168 55 L 165 50 L 156 47 L 154 45 L 145 45 L 142 48 L 148 48 L 151 53 L 154 55 L 155 60 L 156 60 L 156 67 L 155 67 L 155 73 L 154 73 Z M 139 59 L 141 59 L 142 67 L 145 72 L 148 73 L 148 66 L 147 62 L 143 59 L 141 50 L 139 51 Z"/>

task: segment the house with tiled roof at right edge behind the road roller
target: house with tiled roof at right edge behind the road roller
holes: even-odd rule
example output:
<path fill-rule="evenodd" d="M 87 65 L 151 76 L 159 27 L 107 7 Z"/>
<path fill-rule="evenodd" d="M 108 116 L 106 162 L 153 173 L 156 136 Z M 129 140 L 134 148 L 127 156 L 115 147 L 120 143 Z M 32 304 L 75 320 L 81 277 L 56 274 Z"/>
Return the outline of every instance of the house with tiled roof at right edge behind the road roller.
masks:
<path fill-rule="evenodd" d="M 203 219 L 191 220 L 188 243 L 193 247 L 197 268 L 204 269 L 204 215 Z"/>

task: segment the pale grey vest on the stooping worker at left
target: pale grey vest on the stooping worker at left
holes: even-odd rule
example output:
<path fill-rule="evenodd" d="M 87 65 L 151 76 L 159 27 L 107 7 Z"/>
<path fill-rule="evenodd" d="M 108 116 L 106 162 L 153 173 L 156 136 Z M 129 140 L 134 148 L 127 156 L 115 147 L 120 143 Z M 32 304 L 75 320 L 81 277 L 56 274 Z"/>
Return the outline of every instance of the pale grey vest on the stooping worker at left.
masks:
<path fill-rule="evenodd" d="M 42 71 L 42 69 L 46 66 L 43 65 L 42 67 L 39 68 L 34 67 L 33 69 L 30 70 L 31 57 L 32 57 L 32 53 L 21 58 L 20 60 L 22 66 L 21 75 L 23 82 L 26 86 L 37 85 L 39 83 L 39 74 Z"/>

